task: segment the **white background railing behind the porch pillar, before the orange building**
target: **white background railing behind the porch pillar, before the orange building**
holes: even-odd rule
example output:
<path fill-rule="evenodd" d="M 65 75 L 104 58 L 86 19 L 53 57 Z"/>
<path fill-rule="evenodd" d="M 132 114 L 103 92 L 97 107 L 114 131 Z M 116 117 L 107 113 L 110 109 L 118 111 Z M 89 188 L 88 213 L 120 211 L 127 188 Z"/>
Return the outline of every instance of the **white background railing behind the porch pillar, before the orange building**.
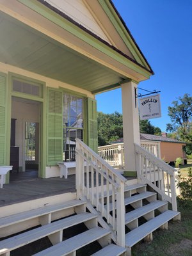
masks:
<path fill-rule="evenodd" d="M 148 152 L 161 158 L 160 142 L 141 140 L 141 147 Z M 98 147 L 98 154 L 114 168 L 122 169 L 125 167 L 124 143 L 116 143 Z"/>

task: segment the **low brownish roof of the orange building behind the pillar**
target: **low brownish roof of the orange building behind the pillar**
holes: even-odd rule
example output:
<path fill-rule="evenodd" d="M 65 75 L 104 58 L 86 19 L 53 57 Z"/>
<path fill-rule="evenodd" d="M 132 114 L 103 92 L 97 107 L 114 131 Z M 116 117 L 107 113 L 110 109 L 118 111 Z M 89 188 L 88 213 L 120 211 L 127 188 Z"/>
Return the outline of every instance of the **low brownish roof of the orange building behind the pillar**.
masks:
<path fill-rule="evenodd" d="M 147 133 L 140 133 L 140 140 L 163 141 L 163 142 L 186 144 L 186 142 L 184 141 L 179 141 L 172 138 L 168 138 L 160 135 L 154 135 L 154 134 L 147 134 Z M 116 144 L 116 143 L 124 143 L 124 138 L 120 138 L 116 141 L 111 142 L 110 144 Z"/>

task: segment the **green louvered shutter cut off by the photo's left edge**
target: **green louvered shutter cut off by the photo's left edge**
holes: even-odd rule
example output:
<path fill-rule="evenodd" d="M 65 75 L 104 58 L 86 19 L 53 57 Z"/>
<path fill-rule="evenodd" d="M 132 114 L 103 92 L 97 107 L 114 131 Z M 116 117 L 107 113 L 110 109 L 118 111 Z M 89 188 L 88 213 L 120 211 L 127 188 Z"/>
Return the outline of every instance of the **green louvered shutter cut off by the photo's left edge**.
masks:
<path fill-rule="evenodd" d="M 6 165 L 6 76 L 0 74 L 0 166 Z"/>

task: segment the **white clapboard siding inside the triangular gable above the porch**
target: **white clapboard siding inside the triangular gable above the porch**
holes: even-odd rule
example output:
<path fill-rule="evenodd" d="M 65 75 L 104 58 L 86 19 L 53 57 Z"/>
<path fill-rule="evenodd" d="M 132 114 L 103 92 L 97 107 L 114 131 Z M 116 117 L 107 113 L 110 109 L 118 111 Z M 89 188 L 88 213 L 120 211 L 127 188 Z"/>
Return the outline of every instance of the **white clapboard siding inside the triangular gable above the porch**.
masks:
<path fill-rule="evenodd" d="M 92 31 L 95 35 L 109 42 L 108 37 L 105 35 L 104 31 L 100 28 L 99 24 L 93 17 L 92 13 L 86 8 L 82 0 L 45 0 L 47 3 L 51 4 L 54 8 L 60 10 L 61 12 L 68 15 L 71 19 L 75 20 L 77 23 L 81 24 L 84 28 Z"/>

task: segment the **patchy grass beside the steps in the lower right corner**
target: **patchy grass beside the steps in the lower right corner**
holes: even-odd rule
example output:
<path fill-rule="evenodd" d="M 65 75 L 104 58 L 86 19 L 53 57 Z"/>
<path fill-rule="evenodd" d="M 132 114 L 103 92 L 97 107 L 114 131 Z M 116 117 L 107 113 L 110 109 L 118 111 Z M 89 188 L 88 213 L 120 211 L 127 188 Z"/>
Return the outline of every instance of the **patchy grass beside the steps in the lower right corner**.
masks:
<path fill-rule="evenodd" d="M 184 204 L 178 200 L 181 221 L 170 221 L 168 230 L 156 230 L 153 241 L 139 243 L 132 248 L 132 256 L 191 256 L 192 200 Z"/>

